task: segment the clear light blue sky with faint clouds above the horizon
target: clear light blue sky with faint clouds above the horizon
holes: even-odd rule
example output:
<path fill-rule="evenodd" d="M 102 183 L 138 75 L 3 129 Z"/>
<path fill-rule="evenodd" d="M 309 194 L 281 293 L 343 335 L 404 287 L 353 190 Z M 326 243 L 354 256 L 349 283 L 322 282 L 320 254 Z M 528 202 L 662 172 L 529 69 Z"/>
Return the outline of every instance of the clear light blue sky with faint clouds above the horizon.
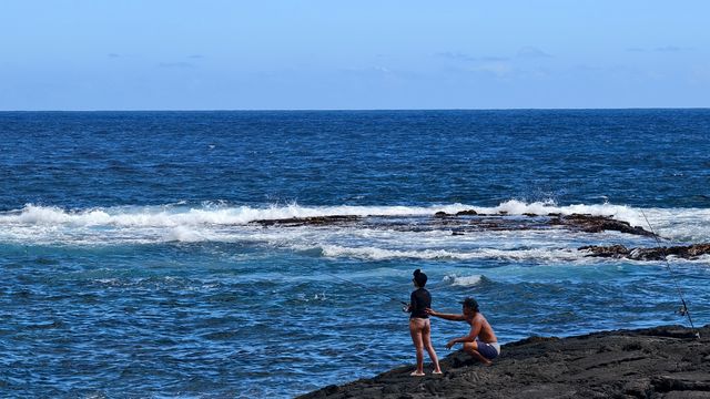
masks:
<path fill-rule="evenodd" d="M 710 1 L 2 0 L 0 110 L 710 106 Z"/>

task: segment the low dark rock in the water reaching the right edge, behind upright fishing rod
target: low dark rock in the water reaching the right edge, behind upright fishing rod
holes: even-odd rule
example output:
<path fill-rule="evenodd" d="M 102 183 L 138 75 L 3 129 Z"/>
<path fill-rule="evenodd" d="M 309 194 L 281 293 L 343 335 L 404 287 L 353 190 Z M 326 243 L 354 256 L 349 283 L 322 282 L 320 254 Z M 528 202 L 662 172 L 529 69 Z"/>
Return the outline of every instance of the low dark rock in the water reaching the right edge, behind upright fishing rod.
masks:
<path fill-rule="evenodd" d="M 587 256 L 628 258 L 635 260 L 663 260 L 666 256 L 676 256 L 683 259 L 696 259 L 701 255 L 710 254 L 710 244 L 631 249 L 628 249 L 623 245 L 589 245 L 579 247 L 578 249 L 589 252 Z"/>

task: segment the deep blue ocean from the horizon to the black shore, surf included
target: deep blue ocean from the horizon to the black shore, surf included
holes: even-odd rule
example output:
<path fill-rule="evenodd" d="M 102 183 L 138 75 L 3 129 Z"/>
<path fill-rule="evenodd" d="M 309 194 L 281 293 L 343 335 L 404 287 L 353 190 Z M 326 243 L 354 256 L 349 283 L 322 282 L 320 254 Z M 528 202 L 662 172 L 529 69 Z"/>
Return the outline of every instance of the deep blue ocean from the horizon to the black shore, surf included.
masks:
<path fill-rule="evenodd" d="M 708 154 L 710 110 L 0 112 L 0 396 L 292 397 L 410 365 L 389 298 L 415 268 L 504 344 L 687 325 L 676 282 L 708 324 L 709 257 L 671 258 L 673 280 L 577 249 L 649 237 L 422 227 L 646 215 L 708 243 Z M 324 215 L 389 222 L 250 223 Z M 465 331 L 434 320 L 439 356 Z"/>

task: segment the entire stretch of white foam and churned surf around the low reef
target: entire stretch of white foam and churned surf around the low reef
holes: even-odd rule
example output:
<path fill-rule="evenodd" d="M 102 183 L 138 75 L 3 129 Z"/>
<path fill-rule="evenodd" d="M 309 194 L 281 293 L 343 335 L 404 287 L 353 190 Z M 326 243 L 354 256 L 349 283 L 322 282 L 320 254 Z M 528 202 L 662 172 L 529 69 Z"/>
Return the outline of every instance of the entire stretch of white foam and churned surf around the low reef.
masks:
<path fill-rule="evenodd" d="M 250 225 L 256 219 L 358 215 L 426 216 L 436 212 L 454 214 L 474 209 L 483 214 L 509 215 L 534 213 L 547 215 L 592 214 L 611 216 L 632 225 L 653 229 L 666 238 L 687 243 L 710 242 L 710 209 L 706 208 L 633 208 L 626 205 L 596 204 L 559 206 L 552 202 L 523 203 L 507 201 L 495 207 L 465 204 L 432 206 L 229 206 L 185 204 L 163 206 L 116 206 L 105 208 L 64 209 L 55 206 L 27 205 L 22 209 L 0 213 L 0 243 L 113 245 L 162 242 L 229 242 L 258 244 L 286 249 L 311 248 L 328 257 L 367 259 L 578 259 L 576 247 L 586 245 L 589 235 L 558 229 L 471 232 L 452 236 L 450 232 L 397 231 L 373 226 L 327 226 L 262 228 Z M 623 237 L 621 237 L 623 236 Z M 631 242 L 648 245 L 648 238 L 597 234 L 596 242 Z M 686 244 L 682 244 L 686 243 Z"/>

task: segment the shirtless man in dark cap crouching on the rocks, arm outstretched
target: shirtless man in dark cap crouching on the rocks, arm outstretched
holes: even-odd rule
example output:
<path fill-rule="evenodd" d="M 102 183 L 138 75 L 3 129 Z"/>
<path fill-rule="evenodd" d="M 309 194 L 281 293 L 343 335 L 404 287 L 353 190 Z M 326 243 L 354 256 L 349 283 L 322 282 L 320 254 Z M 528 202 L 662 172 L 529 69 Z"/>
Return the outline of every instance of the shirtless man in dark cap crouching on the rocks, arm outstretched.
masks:
<path fill-rule="evenodd" d="M 467 336 L 454 338 L 446 344 L 446 349 L 450 349 L 458 342 L 464 342 L 464 350 L 485 366 L 490 366 L 490 360 L 500 355 L 500 345 L 488 324 L 488 320 L 478 311 L 478 303 L 474 298 L 466 298 L 462 301 L 463 315 L 442 314 L 436 310 L 426 309 L 430 316 L 439 317 L 452 321 L 466 321 L 470 325 L 470 332 Z"/>

